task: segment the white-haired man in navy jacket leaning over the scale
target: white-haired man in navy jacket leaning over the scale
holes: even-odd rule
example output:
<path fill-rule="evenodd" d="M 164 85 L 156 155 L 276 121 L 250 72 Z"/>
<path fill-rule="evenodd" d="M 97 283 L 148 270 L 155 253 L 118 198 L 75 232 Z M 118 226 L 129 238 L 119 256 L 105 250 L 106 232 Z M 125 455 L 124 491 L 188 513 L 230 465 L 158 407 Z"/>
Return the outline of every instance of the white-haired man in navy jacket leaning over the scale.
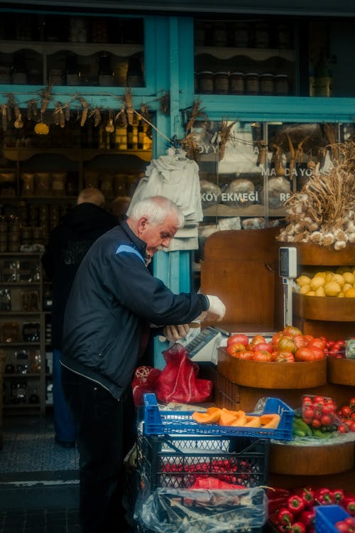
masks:
<path fill-rule="evenodd" d="M 225 313 L 217 296 L 174 294 L 147 268 L 184 222 L 168 198 L 141 200 L 94 242 L 72 285 L 61 362 L 80 453 L 82 533 L 131 531 L 123 464 L 136 438 L 131 381 L 149 335 L 177 341 L 191 321 Z"/>

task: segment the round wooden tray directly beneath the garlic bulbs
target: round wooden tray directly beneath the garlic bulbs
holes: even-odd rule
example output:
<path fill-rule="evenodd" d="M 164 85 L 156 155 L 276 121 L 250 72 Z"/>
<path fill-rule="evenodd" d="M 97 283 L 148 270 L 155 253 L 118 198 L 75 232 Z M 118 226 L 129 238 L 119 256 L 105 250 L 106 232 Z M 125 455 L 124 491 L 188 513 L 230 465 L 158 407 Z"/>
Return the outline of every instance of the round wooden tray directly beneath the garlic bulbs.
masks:
<path fill-rule="evenodd" d="M 308 242 L 280 242 L 281 246 L 295 247 L 297 249 L 297 263 L 308 265 L 354 265 L 355 244 L 348 244 L 342 250 L 326 248 Z"/>

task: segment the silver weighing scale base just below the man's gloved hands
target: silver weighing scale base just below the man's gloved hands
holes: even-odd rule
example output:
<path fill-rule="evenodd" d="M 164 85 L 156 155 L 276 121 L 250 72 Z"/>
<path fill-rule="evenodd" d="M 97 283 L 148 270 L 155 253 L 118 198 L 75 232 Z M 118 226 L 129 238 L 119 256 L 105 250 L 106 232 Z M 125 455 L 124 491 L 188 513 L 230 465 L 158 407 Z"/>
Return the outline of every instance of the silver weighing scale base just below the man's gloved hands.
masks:
<path fill-rule="evenodd" d="M 217 365 L 218 348 L 228 337 L 227 331 L 208 325 L 190 343 L 185 345 L 187 357 L 190 357 L 192 361 L 212 362 Z"/>

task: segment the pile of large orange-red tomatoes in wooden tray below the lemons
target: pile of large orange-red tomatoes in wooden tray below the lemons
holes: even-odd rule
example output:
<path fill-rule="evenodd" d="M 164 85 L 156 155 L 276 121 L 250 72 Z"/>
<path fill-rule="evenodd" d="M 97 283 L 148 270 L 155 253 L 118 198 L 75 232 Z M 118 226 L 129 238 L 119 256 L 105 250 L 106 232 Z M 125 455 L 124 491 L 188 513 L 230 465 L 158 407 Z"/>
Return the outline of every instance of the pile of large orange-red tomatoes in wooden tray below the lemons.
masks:
<path fill-rule="evenodd" d="M 235 333 L 227 339 L 226 351 L 232 357 L 263 362 L 315 361 L 324 358 L 325 338 L 303 335 L 293 325 L 273 334 L 270 341 L 263 335 L 251 340 L 244 333 Z"/>

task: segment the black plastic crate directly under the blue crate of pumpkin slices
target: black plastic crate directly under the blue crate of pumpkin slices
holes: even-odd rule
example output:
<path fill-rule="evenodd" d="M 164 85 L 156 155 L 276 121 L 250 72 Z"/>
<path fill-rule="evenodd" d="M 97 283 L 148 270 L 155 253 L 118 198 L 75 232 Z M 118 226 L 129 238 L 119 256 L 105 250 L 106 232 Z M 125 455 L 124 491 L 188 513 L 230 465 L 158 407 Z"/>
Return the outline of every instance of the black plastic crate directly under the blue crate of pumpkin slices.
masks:
<path fill-rule="evenodd" d="M 146 436 L 138 432 L 141 488 L 191 488 L 217 478 L 253 488 L 266 485 L 270 441 L 226 436 Z"/>

